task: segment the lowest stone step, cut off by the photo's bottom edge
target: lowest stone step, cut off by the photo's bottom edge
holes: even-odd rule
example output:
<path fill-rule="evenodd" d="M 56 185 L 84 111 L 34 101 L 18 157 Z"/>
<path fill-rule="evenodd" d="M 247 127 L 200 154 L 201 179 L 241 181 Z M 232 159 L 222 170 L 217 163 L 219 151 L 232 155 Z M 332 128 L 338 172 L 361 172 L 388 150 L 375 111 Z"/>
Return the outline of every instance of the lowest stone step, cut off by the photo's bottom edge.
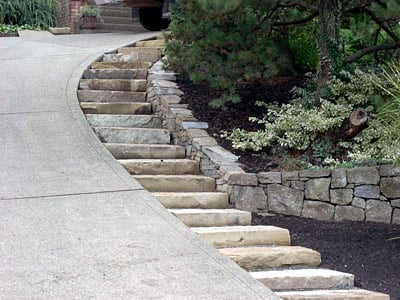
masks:
<path fill-rule="evenodd" d="M 386 294 L 361 289 L 276 292 L 284 300 L 389 300 Z"/>

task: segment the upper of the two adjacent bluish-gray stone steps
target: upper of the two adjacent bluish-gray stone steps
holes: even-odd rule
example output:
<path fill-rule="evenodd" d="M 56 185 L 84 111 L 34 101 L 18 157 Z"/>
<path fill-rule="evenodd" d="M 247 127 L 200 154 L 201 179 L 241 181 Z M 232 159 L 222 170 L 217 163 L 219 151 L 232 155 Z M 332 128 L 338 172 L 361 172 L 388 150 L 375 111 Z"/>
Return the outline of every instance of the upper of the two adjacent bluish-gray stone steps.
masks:
<path fill-rule="evenodd" d="M 87 114 L 90 126 L 162 128 L 162 119 L 155 115 L 104 115 Z"/>

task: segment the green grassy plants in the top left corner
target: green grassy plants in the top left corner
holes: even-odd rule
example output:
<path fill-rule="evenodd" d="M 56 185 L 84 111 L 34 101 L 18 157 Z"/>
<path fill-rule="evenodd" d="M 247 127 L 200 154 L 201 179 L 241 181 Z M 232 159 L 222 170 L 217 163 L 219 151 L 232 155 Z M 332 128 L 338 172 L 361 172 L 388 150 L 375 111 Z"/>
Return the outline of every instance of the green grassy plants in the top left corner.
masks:
<path fill-rule="evenodd" d="M 56 0 L 0 0 L 0 23 L 47 29 L 56 23 Z"/>

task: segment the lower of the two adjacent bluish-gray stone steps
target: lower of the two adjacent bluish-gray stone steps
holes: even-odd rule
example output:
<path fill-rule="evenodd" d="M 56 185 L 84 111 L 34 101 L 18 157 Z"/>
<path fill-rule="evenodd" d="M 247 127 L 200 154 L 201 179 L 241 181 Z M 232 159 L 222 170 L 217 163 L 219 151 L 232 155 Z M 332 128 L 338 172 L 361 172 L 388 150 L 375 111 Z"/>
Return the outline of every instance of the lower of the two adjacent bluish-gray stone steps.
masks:
<path fill-rule="evenodd" d="M 170 135 L 166 129 L 92 127 L 103 143 L 121 144 L 169 144 Z"/>

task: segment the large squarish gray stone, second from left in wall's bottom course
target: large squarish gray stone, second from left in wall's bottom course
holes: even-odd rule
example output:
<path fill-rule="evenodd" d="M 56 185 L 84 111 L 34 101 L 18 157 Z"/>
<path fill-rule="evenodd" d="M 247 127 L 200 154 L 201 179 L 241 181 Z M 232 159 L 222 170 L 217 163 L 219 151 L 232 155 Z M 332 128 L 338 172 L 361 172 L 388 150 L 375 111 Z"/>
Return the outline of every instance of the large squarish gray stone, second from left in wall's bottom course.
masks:
<path fill-rule="evenodd" d="M 267 196 L 269 211 L 283 215 L 301 215 L 304 192 L 278 184 L 270 184 L 267 188 Z"/>

